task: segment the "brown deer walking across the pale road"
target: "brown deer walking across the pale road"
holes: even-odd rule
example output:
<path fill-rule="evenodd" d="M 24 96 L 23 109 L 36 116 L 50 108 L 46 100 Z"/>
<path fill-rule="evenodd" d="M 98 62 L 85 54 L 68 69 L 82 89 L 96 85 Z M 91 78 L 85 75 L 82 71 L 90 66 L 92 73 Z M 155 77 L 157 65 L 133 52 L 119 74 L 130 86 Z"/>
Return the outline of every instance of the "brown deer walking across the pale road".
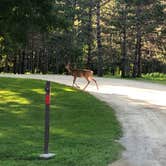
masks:
<path fill-rule="evenodd" d="M 96 80 L 93 78 L 93 71 L 92 70 L 88 70 L 88 69 L 72 69 L 70 66 L 70 63 L 68 63 L 65 68 L 68 70 L 68 72 L 74 77 L 73 78 L 73 85 L 76 85 L 77 88 L 80 88 L 77 84 L 76 84 L 76 79 L 77 77 L 84 77 L 88 83 L 85 85 L 85 87 L 83 88 L 83 90 L 85 90 L 87 88 L 87 86 L 89 85 L 89 83 L 93 80 L 96 84 L 97 90 L 98 85 Z"/>

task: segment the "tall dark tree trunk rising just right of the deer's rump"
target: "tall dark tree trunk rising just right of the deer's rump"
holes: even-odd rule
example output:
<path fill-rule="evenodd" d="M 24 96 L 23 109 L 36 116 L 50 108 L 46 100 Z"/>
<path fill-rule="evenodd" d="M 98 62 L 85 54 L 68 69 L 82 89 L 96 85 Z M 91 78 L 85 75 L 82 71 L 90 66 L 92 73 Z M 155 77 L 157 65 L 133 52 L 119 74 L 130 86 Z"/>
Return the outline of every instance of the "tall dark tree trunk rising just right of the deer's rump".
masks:
<path fill-rule="evenodd" d="M 102 57 L 102 44 L 101 44 L 101 26 L 100 26 L 100 0 L 96 4 L 96 15 L 97 15 L 97 49 L 98 49 L 98 69 L 97 75 L 103 76 L 103 57 Z"/>

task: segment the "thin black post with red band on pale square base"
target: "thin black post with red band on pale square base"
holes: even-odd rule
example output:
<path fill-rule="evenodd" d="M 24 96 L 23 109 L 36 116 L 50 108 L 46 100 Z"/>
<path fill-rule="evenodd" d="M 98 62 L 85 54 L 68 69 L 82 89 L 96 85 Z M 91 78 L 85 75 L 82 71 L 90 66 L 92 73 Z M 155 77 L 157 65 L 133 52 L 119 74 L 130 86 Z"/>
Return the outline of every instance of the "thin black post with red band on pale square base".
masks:
<path fill-rule="evenodd" d="M 40 157 L 48 159 L 53 157 L 55 154 L 48 152 L 49 145 L 49 129 L 50 129 L 50 81 L 46 82 L 45 85 L 45 132 L 44 132 L 44 154 Z"/>

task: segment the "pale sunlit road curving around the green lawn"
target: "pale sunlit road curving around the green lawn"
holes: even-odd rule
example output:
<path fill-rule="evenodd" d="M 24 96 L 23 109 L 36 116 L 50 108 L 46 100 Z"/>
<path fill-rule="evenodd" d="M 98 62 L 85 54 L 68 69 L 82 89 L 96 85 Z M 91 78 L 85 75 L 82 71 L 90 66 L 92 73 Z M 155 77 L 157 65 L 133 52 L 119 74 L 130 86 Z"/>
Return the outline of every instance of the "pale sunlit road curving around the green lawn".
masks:
<path fill-rule="evenodd" d="M 71 76 L 5 76 L 72 84 Z M 120 79 L 96 80 L 99 90 L 91 83 L 87 91 L 116 110 L 124 131 L 120 142 L 126 150 L 122 159 L 110 166 L 166 166 L 166 86 Z M 86 83 L 80 78 L 77 82 L 81 87 Z"/>

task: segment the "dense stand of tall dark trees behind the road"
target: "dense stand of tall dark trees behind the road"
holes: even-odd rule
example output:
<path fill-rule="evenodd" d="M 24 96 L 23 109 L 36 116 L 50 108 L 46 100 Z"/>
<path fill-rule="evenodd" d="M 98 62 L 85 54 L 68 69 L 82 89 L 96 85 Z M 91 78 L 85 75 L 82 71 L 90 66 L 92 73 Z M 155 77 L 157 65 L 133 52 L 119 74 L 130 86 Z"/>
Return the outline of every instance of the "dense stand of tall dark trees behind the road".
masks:
<path fill-rule="evenodd" d="M 0 0 L 0 72 L 166 73 L 165 0 Z"/>

